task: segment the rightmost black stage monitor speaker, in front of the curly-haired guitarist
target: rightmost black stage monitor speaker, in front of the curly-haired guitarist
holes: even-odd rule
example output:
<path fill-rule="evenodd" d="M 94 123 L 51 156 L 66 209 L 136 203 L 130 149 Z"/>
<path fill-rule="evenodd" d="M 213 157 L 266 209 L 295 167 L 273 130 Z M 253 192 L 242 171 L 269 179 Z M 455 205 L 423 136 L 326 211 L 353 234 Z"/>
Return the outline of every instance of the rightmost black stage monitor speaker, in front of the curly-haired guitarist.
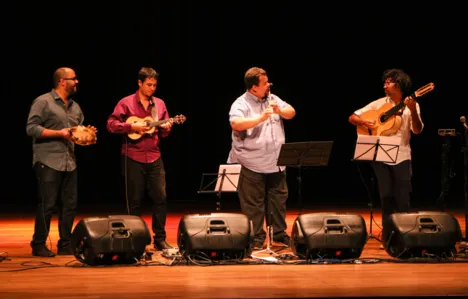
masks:
<path fill-rule="evenodd" d="M 458 220 L 444 212 L 395 213 L 384 223 L 382 243 L 396 258 L 451 257 L 461 240 Z"/>

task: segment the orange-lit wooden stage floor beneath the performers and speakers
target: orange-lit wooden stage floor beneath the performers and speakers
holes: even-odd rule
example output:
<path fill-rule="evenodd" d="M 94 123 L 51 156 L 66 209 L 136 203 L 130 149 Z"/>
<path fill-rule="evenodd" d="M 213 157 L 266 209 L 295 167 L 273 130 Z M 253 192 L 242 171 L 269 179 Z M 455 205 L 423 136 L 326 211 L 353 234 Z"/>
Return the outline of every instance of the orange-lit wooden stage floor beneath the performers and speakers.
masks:
<path fill-rule="evenodd" d="M 182 209 L 183 210 L 183 209 Z M 203 211 L 200 211 L 203 212 Z M 213 211 L 212 211 L 213 212 Z M 356 213 L 364 217 L 369 232 L 369 212 L 365 209 L 302 210 Z M 199 213 L 199 212 L 197 212 Z M 465 235 L 464 211 L 447 211 L 460 223 Z M 118 213 L 114 213 L 116 215 Z M 178 224 L 184 212 L 170 212 L 168 242 L 177 245 Z M 86 217 L 108 216 L 99 212 Z M 298 211 L 288 211 L 291 234 Z M 391 258 L 380 243 L 369 239 L 359 259 L 352 263 L 267 263 L 194 265 L 173 262 L 154 252 L 152 261 L 140 265 L 89 266 L 71 256 L 39 258 L 31 255 L 32 213 L 5 213 L 0 216 L 0 298 L 357 298 L 357 297 L 438 297 L 468 295 L 468 258 L 450 261 L 413 262 Z M 56 251 L 57 217 L 54 216 L 49 247 Z M 380 235 L 381 215 L 374 211 L 372 233 Z M 150 215 L 143 219 L 151 227 Z M 460 243 L 457 243 L 457 250 Z M 150 246 L 148 246 L 149 248 Z M 273 250 L 281 247 L 274 246 Z M 458 252 L 458 251 L 457 251 Z M 279 254 L 292 254 L 283 249 Z M 257 254 L 268 257 L 268 253 Z M 253 259 L 244 259 L 255 261 Z M 171 264 L 172 262 L 172 264 Z"/>

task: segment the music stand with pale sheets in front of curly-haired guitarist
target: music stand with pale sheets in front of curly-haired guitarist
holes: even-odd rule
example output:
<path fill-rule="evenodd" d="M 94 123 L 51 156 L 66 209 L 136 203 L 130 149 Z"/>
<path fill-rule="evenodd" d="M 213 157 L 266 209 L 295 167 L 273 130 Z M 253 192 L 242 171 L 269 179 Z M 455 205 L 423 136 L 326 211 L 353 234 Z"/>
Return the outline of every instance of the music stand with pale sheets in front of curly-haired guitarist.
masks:
<path fill-rule="evenodd" d="M 396 163 L 398 158 L 398 151 L 400 149 L 400 141 L 401 138 L 397 136 L 389 137 L 358 135 L 353 161 Z M 374 185 L 373 179 L 372 185 Z M 382 241 L 372 233 L 372 222 L 374 221 L 372 195 L 370 196 L 369 200 L 370 202 L 368 206 L 370 211 L 370 227 L 365 243 L 367 243 L 370 238 L 376 239 L 382 243 Z"/>

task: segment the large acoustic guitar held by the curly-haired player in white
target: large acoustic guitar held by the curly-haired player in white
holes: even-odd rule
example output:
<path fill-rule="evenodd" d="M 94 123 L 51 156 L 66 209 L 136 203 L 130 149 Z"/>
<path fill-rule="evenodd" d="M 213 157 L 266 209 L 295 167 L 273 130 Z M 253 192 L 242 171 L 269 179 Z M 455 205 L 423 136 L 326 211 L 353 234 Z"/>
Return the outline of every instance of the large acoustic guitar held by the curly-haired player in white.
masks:
<path fill-rule="evenodd" d="M 411 94 L 414 100 L 426 95 L 434 90 L 434 83 L 429 83 L 419 88 Z M 362 119 L 375 121 L 374 128 L 368 128 L 364 125 L 357 126 L 358 135 L 372 135 L 372 136 L 389 136 L 396 133 L 401 126 L 401 116 L 398 115 L 399 111 L 405 108 L 405 101 L 392 106 L 390 103 L 385 103 L 378 110 L 369 110 L 361 115 Z"/>

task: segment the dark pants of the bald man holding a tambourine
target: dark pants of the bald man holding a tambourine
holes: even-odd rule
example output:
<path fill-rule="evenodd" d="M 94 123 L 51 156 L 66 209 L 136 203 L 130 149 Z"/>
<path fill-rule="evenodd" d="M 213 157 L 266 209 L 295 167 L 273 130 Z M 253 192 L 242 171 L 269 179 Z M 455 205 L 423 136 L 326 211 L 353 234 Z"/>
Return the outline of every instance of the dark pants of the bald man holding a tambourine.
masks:
<path fill-rule="evenodd" d="M 42 163 L 34 165 L 38 184 L 39 203 L 34 222 L 31 245 L 44 244 L 50 231 L 54 207 L 58 206 L 58 229 L 60 239 L 57 247 L 66 247 L 71 242 L 73 221 L 78 199 L 77 170 L 57 171 Z"/>

